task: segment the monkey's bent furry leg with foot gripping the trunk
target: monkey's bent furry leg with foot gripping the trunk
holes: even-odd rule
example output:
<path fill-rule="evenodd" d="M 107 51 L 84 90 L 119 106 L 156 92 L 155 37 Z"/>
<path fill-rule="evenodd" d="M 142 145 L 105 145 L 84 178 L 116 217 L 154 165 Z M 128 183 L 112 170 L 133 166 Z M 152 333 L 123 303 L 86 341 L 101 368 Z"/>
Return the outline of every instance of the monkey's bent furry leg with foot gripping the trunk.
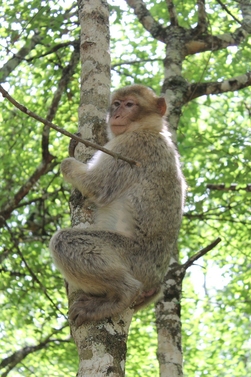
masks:
<path fill-rule="evenodd" d="M 50 248 L 57 268 L 83 294 L 69 309 L 76 325 L 115 316 L 129 307 L 142 291 L 119 253 L 130 239 L 106 231 L 76 228 L 58 231 Z"/>

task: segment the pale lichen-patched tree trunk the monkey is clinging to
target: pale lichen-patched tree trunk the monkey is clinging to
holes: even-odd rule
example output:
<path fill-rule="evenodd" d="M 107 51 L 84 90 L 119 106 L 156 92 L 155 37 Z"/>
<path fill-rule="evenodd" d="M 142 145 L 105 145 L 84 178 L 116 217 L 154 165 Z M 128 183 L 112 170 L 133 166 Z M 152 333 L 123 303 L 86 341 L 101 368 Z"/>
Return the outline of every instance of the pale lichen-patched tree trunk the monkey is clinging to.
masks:
<path fill-rule="evenodd" d="M 78 0 L 81 26 L 80 58 L 81 89 L 78 107 L 78 132 L 85 139 L 104 144 L 106 113 L 110 97 L 110 32 L 109 5 L 104 0 Z M 86 161 L 95 151 L 79 144 L 75 157 Z M 87 227 L 92 223 L 92 207 L 77 190 L 70 197 L 72 226 Z M 79 292 L 69 286 L 69 305 Z M 79 355 L 78 377 L 123 377 L 126 342 L 133 310 L 116 319 L 87 322 L 70 331 Z"/>

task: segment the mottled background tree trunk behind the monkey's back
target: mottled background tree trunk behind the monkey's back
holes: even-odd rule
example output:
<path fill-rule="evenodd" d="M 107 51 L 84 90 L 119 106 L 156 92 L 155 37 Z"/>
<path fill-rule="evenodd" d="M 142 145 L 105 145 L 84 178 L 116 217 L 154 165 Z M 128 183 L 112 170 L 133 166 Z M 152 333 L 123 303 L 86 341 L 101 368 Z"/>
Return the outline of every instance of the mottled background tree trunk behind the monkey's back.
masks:
<path fill-rule="evenodd" d="M 170 38 L 166 47 L 165 80 L 162 87 L 162 94 L 168 103 L 169 131 L 172 140 L 177 143 L 177 128 L 183 104 L 183 90 L 186 86 L 182 78 L 182 46 L 178 48 L 175 39 Z M 170 86 L 170 82 L 184 83 L 183 86 Z M 182 377 L 183 376 L 183 355 L 181 345 L 181 293 L 182 279 L 184 274 L 180 273 L 179 250 L 173 251 L 170 265 L 164 278 L 167 290 L 164 299 L 156 305 L 156 328 L 158 332 L 157 357 L 159 361 L 160 377 Z"/>

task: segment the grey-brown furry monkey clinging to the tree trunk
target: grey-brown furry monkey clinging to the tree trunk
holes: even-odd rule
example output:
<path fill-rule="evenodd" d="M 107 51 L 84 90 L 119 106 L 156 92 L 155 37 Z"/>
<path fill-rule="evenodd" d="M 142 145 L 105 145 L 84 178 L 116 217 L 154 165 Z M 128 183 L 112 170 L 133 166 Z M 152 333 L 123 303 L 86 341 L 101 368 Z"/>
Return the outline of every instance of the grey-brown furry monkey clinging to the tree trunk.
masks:
<path fill-rule="evenodd" d="M 116 317 L 133 303 L 135 312 L 164 295 L 164 275 L 182 221 L 185 180 L 164 115 L 164 97 L 134 84 L 112 94 L 106 148 L 141 162 L 98 151 L 87 164 L 61 162 L 65 181 L 95 205 L 89 228 L 66 228 L 52 236 L 50 250 L 64 278 L 83 293 L 69 320 Z"/>

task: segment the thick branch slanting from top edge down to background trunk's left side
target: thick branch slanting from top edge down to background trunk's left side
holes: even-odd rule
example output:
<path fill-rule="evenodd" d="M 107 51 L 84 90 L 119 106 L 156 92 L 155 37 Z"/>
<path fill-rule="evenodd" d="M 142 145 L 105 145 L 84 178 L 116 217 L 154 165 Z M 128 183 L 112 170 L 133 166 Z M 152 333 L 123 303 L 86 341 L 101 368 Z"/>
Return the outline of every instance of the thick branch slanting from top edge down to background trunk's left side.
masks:
<path fill-rule="evenodd" d="M 146 8 L 145 3 L 142 0 L 126 0 L 126 2 L 134 9 L 134 13 L 144 28 L 149 31 L 154 38 L 164 42 L 167 28 L 155 21 L 152 14 Z"/>

